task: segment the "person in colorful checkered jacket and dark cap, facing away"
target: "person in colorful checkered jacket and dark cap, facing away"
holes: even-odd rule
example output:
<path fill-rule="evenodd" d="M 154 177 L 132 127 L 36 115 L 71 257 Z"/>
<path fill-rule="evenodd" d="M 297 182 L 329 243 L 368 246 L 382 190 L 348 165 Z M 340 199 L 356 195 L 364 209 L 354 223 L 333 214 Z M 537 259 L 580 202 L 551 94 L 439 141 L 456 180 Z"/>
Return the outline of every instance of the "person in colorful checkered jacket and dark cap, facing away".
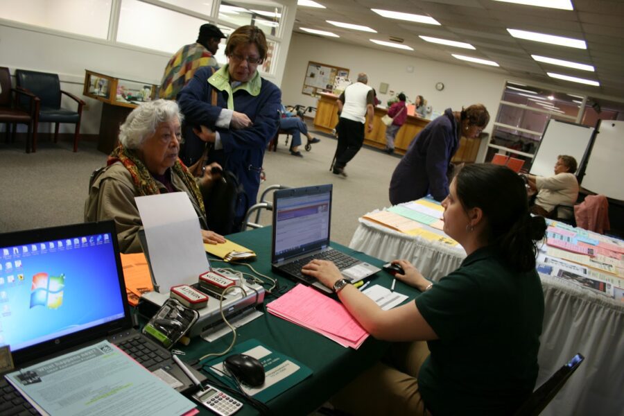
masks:
<path fill-rule="evenodd" d="M 177 93 L 189 83 L 198 68 L 216 67 L 214 55 L 224 37 L 214 24 L 202 24 L 197 42 L 182 46 L 167 63 L 160 83 L 160 98 L 175 100 Z"/>

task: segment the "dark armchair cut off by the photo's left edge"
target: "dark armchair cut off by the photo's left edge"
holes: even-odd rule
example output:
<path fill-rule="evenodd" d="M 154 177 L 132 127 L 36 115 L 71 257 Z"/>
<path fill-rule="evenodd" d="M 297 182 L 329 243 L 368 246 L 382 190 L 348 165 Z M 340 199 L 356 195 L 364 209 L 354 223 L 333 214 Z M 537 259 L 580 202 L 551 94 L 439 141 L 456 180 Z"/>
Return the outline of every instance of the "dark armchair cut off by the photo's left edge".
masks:
<path fill-rule="evenodd" d="M 28 125 L 26 153 L 31 153 L 33 114 L 37 98 L 33 94 L 27 94 L 11 87 L 11 73 L 7 67 L 0 67 L 0 89 L 0 123 L 6 124 L 6 141 L 8 142 L 9 138 L 11 141 L 15 141 L 17 124 L 26 124 Z M 16 108 L 18 96 L 24 97 L 24 101 L 27 103 L 25 110 Z"/>

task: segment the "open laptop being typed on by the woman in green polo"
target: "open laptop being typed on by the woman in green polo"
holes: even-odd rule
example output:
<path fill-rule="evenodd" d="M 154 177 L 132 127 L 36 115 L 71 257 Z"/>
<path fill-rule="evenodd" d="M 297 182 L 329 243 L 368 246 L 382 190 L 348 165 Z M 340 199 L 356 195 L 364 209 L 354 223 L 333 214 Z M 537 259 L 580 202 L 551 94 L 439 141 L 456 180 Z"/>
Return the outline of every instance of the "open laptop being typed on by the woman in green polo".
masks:
<path fill-rule="evenodd" d="M 286 277 L 333 293 L 301 268 L 312 259 L 331 260 L 352 283 L 381 270 L 329 246 L 332 185 L 279 189 L 273 193 L 271 267 Z"/>

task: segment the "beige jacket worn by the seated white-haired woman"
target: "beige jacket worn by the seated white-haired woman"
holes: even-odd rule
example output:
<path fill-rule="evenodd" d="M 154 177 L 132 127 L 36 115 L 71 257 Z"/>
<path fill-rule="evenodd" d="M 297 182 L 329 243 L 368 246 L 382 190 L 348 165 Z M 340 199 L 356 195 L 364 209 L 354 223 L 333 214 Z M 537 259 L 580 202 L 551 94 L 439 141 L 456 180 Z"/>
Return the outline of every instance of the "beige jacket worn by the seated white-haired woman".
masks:
<path fill-rule="evenodd" d="M 206 218 L 193 198 L 191 191 L 182 179 L 168 171 L 173 187 L 180 192 L 186 192 L 200 220 L 202 229 L 208 229 Z M 158 181 L 158 188 L 162 193 L 167 189 Z M 139 230 L 143 229 L 139 209 L 135 202 L 139 196 L 132 182 L 132 176 L 121 162 L 108 166 L 94 180 L 89 189 L 89 196 L 85 202 L 85 221 L 114 220 L 119 240 L 119 250 L 123 253 L 143 251 L 139 242 Z"/>

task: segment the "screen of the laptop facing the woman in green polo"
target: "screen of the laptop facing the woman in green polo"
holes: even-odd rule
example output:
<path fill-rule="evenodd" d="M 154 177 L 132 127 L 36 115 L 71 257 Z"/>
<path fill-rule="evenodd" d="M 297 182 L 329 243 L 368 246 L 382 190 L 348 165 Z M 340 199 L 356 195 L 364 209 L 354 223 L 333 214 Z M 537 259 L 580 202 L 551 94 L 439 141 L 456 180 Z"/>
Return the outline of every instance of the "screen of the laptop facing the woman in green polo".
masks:
<path fill-rule="evenodd" d="M 273 198 L 273 263 L 329 246 L 331 184 L 282 189 Z"/>

